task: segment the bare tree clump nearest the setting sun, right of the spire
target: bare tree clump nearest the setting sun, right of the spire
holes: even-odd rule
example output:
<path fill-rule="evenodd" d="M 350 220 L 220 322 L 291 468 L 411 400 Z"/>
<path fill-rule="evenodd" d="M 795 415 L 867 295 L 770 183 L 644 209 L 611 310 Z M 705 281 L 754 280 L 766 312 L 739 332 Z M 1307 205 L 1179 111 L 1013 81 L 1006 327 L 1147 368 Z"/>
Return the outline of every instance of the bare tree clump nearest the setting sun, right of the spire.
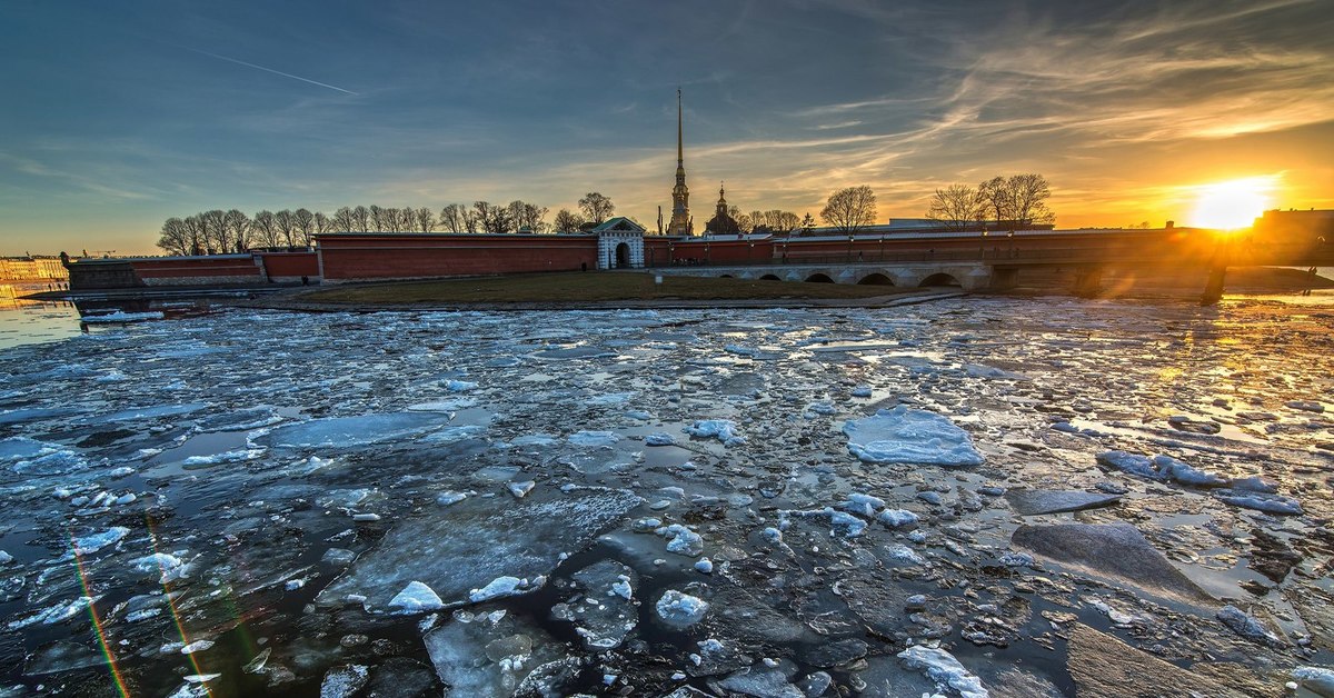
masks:
<path fill-rule="evenodd" d="M 951 231 L 995 223 L 1026 227 L 1055 223 L 1047 208 L 1051 186 L 1038 173 L 991 178 L 976 187 L 950 184 L 935 190 L 926 218 Z"/>

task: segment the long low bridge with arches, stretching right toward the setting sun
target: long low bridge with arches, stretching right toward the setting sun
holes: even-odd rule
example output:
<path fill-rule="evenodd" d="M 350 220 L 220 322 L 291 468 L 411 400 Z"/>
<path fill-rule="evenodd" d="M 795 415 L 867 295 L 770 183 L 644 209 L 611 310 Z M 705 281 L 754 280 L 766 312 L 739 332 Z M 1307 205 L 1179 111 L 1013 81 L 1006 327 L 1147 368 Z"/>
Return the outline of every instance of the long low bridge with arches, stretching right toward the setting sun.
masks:
<path fill-rule="evenodd" d="M 1045 284 L 1061 279 L 1081 296 L 1098 295 L 1109 274 L 1173 278 L 1207 272 L 1205 303 L 1222 296 L 1227 267 L 1321 266 L 1334 266 L 1334 244 L 1323 236 L 1279 239 L 1202 228 L 762 240 L 728 236 L 675 242 L 667 250 L 658 246 L 644 258 L 644 267 L 679 276 L 958 286 L 967 291 L 1007 290 L 1042 278 Z"/>

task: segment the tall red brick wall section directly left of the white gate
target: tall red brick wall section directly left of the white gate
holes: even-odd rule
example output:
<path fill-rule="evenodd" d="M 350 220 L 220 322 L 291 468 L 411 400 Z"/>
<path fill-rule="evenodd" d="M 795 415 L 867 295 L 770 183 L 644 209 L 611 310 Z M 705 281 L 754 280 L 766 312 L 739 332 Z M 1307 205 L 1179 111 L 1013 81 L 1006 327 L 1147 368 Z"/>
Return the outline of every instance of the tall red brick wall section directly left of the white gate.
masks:
<path fill-rule="evenodd" d="M 325 235 L 325 282 L 598 268 L 595 235 Z"/>

